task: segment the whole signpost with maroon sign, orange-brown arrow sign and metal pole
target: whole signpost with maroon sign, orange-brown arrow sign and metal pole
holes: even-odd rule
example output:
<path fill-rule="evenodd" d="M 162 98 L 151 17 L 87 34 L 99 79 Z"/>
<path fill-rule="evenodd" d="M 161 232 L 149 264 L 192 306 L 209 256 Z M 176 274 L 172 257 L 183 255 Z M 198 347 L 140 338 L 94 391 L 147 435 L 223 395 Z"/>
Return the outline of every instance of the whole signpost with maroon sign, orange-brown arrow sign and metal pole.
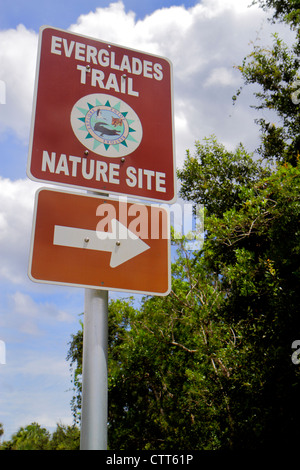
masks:
<path fill-rule="evenodd" d="M 27 175 L 94 194 L 37 192 L 29 277 L 85 288 L 80 448 L 106 450 L 108 292 L 167 295 L 171 263 L 166 209 L 102 194 L 176 200 L 168 59 L 42 27 Z"/>

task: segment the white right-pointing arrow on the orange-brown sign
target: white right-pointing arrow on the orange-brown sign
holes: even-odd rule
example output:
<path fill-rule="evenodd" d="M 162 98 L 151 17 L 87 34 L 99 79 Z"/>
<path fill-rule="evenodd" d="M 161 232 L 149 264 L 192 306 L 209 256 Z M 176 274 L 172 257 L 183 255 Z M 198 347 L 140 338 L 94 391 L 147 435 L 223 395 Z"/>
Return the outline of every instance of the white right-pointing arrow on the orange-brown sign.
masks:
<path fill-rule="evenodd" d="M 112 232 L 55 225 L 53 245 L 108 251 L 111 253 L 110 266 L 112 268 L 149 250 L 149 245 L 118 220 L 112 219 L 111 225 Z"/>

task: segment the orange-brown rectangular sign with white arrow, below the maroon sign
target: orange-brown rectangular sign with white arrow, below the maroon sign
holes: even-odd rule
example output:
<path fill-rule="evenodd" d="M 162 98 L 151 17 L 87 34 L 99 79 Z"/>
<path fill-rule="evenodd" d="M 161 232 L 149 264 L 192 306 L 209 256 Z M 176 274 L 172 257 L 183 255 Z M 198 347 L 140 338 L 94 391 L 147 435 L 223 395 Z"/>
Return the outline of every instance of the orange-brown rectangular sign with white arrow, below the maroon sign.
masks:
<path fill-rule="evenodd" d="M 167 295 L 169 234 L 168 211 L 158 205 L 42 188 L 35 199 L 29 277 Z"/>

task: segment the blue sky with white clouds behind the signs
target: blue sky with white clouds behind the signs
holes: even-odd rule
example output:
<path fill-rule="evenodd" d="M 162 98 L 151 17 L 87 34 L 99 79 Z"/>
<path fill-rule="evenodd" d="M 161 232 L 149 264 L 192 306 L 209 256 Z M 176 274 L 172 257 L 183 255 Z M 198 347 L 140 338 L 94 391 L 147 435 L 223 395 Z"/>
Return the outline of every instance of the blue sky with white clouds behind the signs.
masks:
<path fill-rule="evenodd" d="M 33 283 L 27 276 L 34 194 L 26 176 L 39 27 L 48 24 L 168 57 L 174 73 L 177 166 L 195 140 L 215 134 L 229 149 L 252 151 L 258 129 L 234 68 L 250 41 L 270 42 L 273 26 L 246 0 L 0 0 L 0 423 L 5 439 L 37 421 L 72 424 L 68 342 L 79 327 L 84 290 Z M 277 27 L 277 30 L 279 28 Z M 286 31 L 281 32 L 288 38 Z M 259 39 L 258 39 L 259 38 Z M 114 293 L 110 297 L 117 297 Z M 128 294 L 130 295 L 130 294 Z"/>

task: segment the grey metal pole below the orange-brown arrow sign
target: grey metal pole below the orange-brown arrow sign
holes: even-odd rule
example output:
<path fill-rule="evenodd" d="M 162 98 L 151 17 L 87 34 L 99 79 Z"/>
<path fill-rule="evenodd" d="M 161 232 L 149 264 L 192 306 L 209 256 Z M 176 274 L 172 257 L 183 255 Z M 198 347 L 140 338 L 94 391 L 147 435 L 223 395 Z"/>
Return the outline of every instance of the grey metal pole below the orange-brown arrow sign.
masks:
<path fill-rule="evenodd" d="M 80 450 L 107 450 L 108 291 L 85 289 Z"/>

